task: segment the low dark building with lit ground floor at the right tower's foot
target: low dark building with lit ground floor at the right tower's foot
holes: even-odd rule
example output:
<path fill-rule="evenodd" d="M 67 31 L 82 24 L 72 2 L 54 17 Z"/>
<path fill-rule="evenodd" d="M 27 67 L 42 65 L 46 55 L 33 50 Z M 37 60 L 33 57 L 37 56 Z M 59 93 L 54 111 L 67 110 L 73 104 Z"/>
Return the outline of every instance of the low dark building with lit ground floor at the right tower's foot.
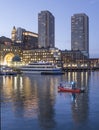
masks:
<path fill-rule="evenodd" d="M 61 61 L 64 69 L 87 68 L 88 58 L 80 50 L 61 51 Z"/>

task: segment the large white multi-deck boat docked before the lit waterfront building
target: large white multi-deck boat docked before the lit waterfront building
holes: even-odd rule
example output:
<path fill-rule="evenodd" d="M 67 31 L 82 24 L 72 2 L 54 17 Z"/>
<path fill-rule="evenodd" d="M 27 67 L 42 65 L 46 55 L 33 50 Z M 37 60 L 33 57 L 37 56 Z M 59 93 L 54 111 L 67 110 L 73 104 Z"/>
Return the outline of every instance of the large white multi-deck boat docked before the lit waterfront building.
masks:
<path fill-rule="evenodd" d="M 30 74 L 63 74 L 61 67 L 49 62 L 29 63 L 21 66 L 20 71 Z"/>

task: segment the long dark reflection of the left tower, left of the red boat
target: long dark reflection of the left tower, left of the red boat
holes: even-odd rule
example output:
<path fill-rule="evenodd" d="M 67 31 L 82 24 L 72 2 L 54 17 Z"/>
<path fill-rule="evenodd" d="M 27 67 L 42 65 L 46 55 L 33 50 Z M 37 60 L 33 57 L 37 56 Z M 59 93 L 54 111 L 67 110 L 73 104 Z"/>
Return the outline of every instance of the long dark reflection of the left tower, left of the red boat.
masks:
<path fill-rule="evenodd" d="M 32 79 L 32 78 L 31 78 Z M 37 95 L 38 95 L 38 119 L 42 129 L 54 128 L 56 121 L 54 119 L 54 105 L 55 105 L 55 79 L 56 77 L 38 77 L 37 82 Z M 32 79 L 33 80 L 33 79 Z M 34 83 L 34 81 L 32 81 Z"/>

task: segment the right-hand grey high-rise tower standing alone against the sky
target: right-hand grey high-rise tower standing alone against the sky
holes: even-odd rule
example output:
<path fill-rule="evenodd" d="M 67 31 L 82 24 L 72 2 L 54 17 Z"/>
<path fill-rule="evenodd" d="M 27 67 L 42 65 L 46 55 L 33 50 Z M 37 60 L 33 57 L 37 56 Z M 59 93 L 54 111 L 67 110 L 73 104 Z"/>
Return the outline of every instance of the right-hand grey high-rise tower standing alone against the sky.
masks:
<path fill-rule="evenodd" d="M 89 57 L 89 18 L 84 13 L 71 17 L 71 50 L 80 50 Z"/>

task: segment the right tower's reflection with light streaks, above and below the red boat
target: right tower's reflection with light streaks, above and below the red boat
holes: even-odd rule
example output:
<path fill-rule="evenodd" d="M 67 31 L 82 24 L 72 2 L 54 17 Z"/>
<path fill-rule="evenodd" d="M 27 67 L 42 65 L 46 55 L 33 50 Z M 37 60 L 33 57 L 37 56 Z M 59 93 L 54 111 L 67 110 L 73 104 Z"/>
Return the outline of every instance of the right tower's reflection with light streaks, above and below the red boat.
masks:
<path fill-rule="evenodd" d="M 76 123 L 86 121 L 89 114 L 88 104 L 88 86 L 90 72 L 68 72 L 66 81 L 75 81 L 78 88 L 84 87 L 86 92 L 81 94 L 71 94 L 72 100 L 72 117 Z M 86 100 L 87 99 L 87 100 Z"/>

